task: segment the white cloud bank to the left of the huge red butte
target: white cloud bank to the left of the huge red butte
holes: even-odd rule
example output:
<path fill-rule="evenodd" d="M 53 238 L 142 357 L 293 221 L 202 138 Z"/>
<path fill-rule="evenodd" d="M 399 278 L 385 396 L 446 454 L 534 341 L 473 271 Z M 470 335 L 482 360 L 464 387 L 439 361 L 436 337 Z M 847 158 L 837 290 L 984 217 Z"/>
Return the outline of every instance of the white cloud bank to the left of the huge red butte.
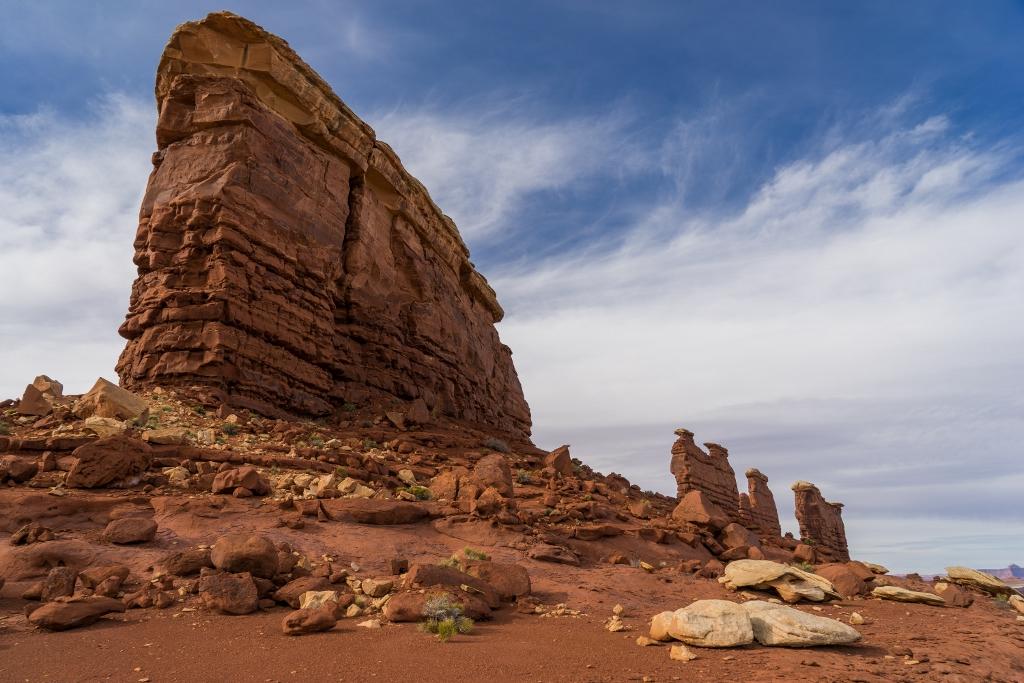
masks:
<path fill-rule="evenodd" d="M 155 120 L 117 94 L 85 119 L 0 117 L 0 394 L 40 373 L 69 391 L 113 377 Z"/>

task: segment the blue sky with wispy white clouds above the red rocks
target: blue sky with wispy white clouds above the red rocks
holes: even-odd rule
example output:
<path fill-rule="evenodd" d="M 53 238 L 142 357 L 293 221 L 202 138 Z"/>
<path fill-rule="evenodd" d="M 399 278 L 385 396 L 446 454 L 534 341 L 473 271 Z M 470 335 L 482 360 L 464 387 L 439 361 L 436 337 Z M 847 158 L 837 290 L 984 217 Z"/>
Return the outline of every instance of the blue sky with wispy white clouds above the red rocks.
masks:
<path fill-rule="evenodd" d="M 112 375 L 156 62 L 220 8 L 0 2 L 0 394 Z M 784 527 L 804 478 L 865 559 L 1022 561 L 1022 3 L 229 8 L 459 223 L 540 445 L 671 492 L 685 425 Z"/>

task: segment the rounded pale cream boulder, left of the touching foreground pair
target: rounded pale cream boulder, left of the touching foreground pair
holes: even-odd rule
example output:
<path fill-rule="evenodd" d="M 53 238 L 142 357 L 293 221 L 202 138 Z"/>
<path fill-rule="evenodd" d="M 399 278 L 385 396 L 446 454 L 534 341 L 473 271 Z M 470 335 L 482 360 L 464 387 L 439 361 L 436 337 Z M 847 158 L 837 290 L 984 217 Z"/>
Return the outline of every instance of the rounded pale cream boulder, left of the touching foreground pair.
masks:
<path fill-rule="evenodd" d="M 671 613 L 671 620 L 664 614 Z M 754 642 L 751 618 L 742 605 L 728 600 L 697 600 L 674 612 L 663 612 L 652 624 L 651 638 L 671 636 L 698 647 L 735 647 Z"/>

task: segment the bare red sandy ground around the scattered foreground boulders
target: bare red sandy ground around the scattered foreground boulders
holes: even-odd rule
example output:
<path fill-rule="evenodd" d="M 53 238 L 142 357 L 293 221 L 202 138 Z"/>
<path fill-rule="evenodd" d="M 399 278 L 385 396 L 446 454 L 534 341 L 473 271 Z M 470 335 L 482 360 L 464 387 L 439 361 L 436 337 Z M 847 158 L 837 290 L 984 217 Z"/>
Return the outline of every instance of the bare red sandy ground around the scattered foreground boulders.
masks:
<path fill-rule="evenodd" d="M 9 514 L 10 506 L 28 504 L 26 495 L 41 494 L 0 489 L 0 512 Z M 89 498 L 101 505 L 104 497 Z M 197 499 L 154 503 L 161 526 L 156 542 L 134 549 L 103 548 L 117 561 L 129 563 L 133 572 L 143 572 L 148 562 L 170 549 L 210 543 L 220 533 L 243 528 L 288 540 L 310 556 L 327 552 L 355 561 L 360 575 L 386 573 L 385 562 L 391 557 L 436 561 L 466 545 L 429 524 L 326 522 L 292 530 L 273 527 L 278 515 L 270 506 L 253 501 L 230 500 L 238 514 L 210 517 L 203 506 L 196 506 Z M 86 528 L 84 519 L 65 522 L 61 539 L 91 541 L 96 533 Z M 741 596 L 714 581 L 672 569 L 647 573 L 606 564 L 575 568 L 528 560 L 510 548 L 473 545 L 495 559 L 526 566 L 535 593 L 546 604 L 564 602 L 586 615 L 541 617 L 509 607 L 495 621 L 479 623 L 474 633 L 439 643 L 413 625 L 368 631 L 355 627 L 361 620 L 343 620 L 326 634 L 287 637 L 280 629 L 286 608 L 222 616 L 202 608 L 182 611 L 184 605 L 176 605 L 108 616 L 75 631 L 44 633 L 28 625 L 23 614 L 27 603 L 14 597 L 25 584 L 9 583 L 0 593 L 0 680 L 1024 681 L 1024 623 L 1006 605 L 984 597 L 968 609 L 870 599 L 824 605 L 813 613 L 845 621 L 852 611 L 860 612 L 867 620 L 857 627 L 863 641 L 813 650 L 696 649 L 698 658 L 684 664 L 671 660 L 668 647 L 636 644 L 650 616 L 694 599 Z M 0 548 L 0 567 L 9 568 L 11 557 L 9 546 Z M 615 603 L 626 607 L 631 631 L 608 633 L 602 628 Z"/>

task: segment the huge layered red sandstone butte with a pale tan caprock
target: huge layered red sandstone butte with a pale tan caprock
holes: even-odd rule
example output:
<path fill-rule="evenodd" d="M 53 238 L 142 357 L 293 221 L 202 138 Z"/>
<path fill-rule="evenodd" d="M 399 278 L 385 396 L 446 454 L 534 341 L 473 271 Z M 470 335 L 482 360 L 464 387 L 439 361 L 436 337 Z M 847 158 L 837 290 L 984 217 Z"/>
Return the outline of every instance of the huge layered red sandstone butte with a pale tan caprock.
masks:
<path fill-rule="evenodd" d="M 455 223 L 284 40 L 229 12 L 184 24 L 156 94 L 124 386 L 271 416 L 422 398 L 528 437 L 502 308 Z"/>

